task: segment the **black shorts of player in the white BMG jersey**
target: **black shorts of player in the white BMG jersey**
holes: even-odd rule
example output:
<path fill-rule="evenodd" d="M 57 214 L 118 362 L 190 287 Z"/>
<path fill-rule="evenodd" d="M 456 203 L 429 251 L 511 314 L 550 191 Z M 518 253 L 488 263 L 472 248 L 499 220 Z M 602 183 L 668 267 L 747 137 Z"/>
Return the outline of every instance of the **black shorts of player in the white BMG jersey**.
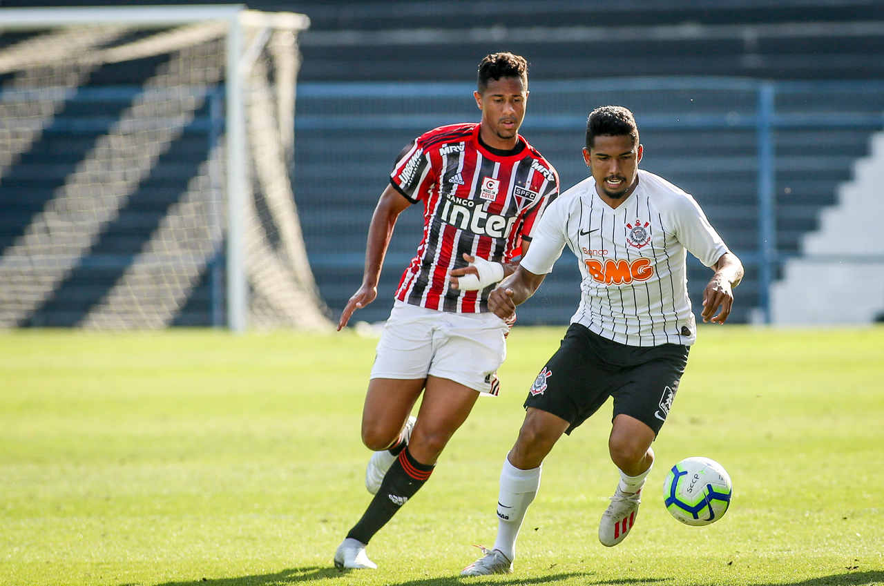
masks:
<path fill-rule="evenodd" d="M 572 323 L 531 385 L 525 408 L 570 422 L 570 434 L 613 397 L 613 417 L 630 415 L 659 433 L 688 364 L 689 346 L 626 346 Z"/>

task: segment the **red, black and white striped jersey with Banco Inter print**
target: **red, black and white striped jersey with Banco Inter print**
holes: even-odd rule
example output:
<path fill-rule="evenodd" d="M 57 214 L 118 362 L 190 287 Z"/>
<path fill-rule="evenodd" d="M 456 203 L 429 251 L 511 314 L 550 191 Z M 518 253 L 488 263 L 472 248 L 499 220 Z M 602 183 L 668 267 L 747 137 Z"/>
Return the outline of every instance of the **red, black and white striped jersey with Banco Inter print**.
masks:
<path fill-rule="evenodd" d="M 423 240 L 396 299 L 453 313 L 488 311 L 488 295 L 449 286 L 463 253 L 496 263 L 520 254 L 537 218 L 559 194 L 559 174 L 522 136 L 510 151 L 479 140 L 477 123 L 440 126 L 402 150 L 390 182 L 423 202 Z"/>

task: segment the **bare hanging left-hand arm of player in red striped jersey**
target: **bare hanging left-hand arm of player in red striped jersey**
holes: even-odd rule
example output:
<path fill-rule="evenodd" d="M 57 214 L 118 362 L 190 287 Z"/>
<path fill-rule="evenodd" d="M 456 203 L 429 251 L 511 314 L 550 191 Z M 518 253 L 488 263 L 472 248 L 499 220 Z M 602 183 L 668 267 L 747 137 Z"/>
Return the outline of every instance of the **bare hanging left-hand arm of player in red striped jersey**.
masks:
<path fill-rule="evenodd" d="M 386 189 L 377 200 L 375 213 L 371 216 L 369 225 L 368 242 L 365 245 L 365 270 L 362 273 L 362 285 L 353 293 L 347 306 L 340 314 L 338 331 L 340 331 L 356 309 L 364 308 L 377 297 L 377 281 L 380 279 L 381 268 L 384 266 L 384 257 L 387 247 L 390 246 L 392 230 L 396 225 L 396 219 L 403 209 L 408 208 L 411 202 L 396 191 L 392 185 Z"/>

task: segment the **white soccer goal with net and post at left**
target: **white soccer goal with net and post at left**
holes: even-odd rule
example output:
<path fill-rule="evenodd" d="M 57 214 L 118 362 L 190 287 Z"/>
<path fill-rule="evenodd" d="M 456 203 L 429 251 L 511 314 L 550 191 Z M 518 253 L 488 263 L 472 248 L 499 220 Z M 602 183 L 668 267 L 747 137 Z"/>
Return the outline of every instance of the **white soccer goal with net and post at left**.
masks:
<path fill-rule="evenodd" d="M 0 11 L 0 328 L 329 327 L 292 187 L 307 26 Z"/>

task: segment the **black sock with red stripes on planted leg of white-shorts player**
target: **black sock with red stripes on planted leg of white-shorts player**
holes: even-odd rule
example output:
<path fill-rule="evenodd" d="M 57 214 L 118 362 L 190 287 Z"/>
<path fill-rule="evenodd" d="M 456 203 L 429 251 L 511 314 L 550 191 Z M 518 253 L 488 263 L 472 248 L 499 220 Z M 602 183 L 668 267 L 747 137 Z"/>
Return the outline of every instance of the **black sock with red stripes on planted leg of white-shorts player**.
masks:
<path fill-rule="evenodd" d="M 371 537 L 392 519 L 408 498 L 415 496 L 432 471 L 432 466 L 421 464 L 408 453 L 408 448 L 403 449 L 384 476 L 384 482 L 377 489 L 375 498 L 371 499 L 369 508 L 350 529 L 347 537 L 363 544 L 369 543 Z"/>

